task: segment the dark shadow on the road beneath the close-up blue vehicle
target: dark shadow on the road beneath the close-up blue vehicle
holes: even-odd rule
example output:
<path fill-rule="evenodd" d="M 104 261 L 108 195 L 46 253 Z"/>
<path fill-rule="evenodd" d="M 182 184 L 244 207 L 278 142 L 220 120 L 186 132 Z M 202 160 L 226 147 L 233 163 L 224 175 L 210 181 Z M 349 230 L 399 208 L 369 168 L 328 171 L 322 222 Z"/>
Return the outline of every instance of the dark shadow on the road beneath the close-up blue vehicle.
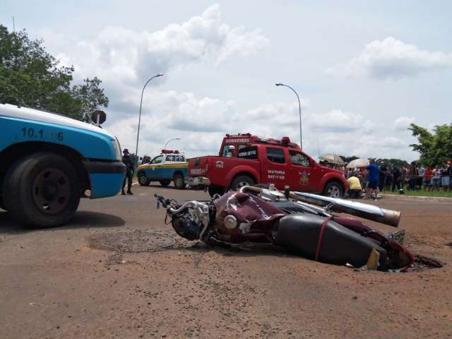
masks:
<path fill-rule="evenodd" d="M 81 210 L 64 226 L 50 228 L 25 227 L 13 220 L 8 212 L 0 210 L 0 234 L 17 234 L 35 230 L 68 230 L 82 227 L 120 227 L 124 226 L 125 223 L 124 219 L 117 215 Z"/>

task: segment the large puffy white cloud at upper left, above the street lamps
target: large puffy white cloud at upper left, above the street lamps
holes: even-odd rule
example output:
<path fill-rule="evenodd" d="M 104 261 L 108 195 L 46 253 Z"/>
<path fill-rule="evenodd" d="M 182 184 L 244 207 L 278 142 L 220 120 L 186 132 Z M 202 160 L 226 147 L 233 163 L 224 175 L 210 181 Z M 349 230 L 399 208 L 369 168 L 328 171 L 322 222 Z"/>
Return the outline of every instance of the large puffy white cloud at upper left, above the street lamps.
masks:
<path fill-rule="evenodd" d="M 77 41 L 57 32 L 42 35 L 76 76 L 98 76 L 104 83 L 136 85 L 155 73 L 165 73 L 196 61 L 220 64 L 231 57 L 248 56 L 266 47 L 269 40 L 258 30 L 246 31 L 222 22 L 217 4 L 201 16 L 162 30 L 136 32 L 120 26 L 104 28 L 89 40 Z"/>

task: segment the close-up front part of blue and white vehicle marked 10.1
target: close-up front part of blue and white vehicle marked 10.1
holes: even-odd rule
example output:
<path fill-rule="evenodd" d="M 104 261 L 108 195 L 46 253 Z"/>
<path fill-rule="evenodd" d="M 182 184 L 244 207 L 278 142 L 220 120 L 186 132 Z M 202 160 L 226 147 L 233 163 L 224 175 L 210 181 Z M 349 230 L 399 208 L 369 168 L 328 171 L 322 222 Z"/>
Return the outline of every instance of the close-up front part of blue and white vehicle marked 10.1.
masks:
<path fill-rule="evenodd" d="M 62 225 L 82 196 L 118 194 L 125 171 L 119 141 L 104 129 L 0 103 L 0 208 L 19 222 Z"/>

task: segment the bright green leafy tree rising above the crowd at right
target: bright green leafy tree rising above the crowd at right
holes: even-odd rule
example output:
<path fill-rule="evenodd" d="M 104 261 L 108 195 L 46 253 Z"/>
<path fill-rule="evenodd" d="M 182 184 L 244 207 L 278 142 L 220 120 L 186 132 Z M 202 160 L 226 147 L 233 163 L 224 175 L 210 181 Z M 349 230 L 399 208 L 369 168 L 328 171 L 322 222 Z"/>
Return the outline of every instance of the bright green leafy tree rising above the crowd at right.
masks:
<path fill-rule="evenodd" d="M 417 137 L 417 143 L 410 147 L 420 153 L 423 165 L 441 165 L 452 159 L 452 124 L 435 126 L 433 133 L 416 124 L 410 124 L 408 130 Z"/>

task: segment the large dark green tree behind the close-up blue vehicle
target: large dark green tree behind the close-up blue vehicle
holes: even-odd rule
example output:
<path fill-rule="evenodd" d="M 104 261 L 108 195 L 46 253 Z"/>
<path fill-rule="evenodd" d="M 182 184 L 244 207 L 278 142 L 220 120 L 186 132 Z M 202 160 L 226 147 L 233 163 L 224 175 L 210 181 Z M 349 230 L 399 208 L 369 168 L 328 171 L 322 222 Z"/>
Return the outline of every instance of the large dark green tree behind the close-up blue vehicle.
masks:
<path fill-rule="evenodd" d="M 108 97 L 98 78 L 71 87 L 73 66 L 59 66 L 43 40 L 30 40 L 25 30 L 8 32 L 0 25 L 0 102 L 44 109 L 83 120 Z"/>

